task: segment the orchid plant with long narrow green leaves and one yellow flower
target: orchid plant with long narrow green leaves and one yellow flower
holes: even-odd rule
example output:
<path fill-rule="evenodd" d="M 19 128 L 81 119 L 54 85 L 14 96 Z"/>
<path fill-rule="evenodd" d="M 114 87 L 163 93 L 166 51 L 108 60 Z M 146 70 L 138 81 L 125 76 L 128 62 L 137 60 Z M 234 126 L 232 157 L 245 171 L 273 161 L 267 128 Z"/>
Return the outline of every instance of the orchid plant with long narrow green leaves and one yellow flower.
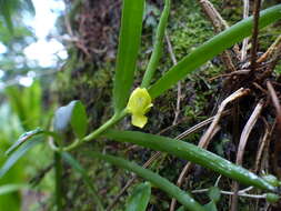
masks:
<path fill-rule="evenodd" d="M 210 59 L 249 37 L 253 28 L 252 17 L 235 23 L 194 49 L 190 54 L 182 58 L 178 64 L 173 66 L 169 71 L 164 72 L 160 79 L 151 84 L 151 80 L 153 79 L 153 74 L 161 58 L 163 37 L 170 11 L 170 0 L 164 0 L 164 9 L 158 26 L 153 52 L 143 76 L 142 83 L 140 87 L 133 89 L 133 78 L 141 41 L 144 3 L 144 0 L 123 0 L 117 69 L 113 81 L 114 86 L 112 104 L 114 114 L 112 118 L 106 121 L 98 129 L 87 133 L 87 112 L 84 105 L 80 101 L 72 101 L 68 105 L 59 108 L 54 115 L 53 131 L 36 129 L 34 131 L 23 134 L 9 150 L 9 158 L 6 164 L 1 168 L 0 175 L 3 175 L 33 145 L 38 143 L 42 144 L 44 142 L 33 139 L 34 137 L 38 137 L 39 134 L 48 135 L 51 137 L 49 145 L 56 154 L 54 168 L 57 183 L 57 210 L 62 210 L 62 160 L 70 163 L 70 165 L 81 174 L 84 182 L 90 187 L 92 190 L 91 192 L 93 194 L 93 200 L 97 202 L 97 209 L 104 210 L 102 201 L 96 188 L 93 187 L 92 181 L 90 181 L 87 171 L 81 167 L 79 161 L 71 157 L 71 151 L 79 149 L 79 147 L 86 142 L 99 141 L 100 138 L 107 138 L 108 140 L 130 142 L 148 149 L 173 154 L 178 158 L 189 160 L 212 171 L 219 172 L 220 174 L 231 178 L 243 184 L 261 189 L 265 192 L 269 192 L 269 195 L 273 195 L 274 199 L 278 199 L 280 194 L 279 181 L 271 182 L 270 180 L 261 178 L 248 171 L 247 169 L 235 165 L 230 161 L 194 144 L 144 132 L 112 129 L 113 125 L 116 125 L 128 114 L 131 114 L 131 123 L 133 125 L 139 128 L 145 127 L 145 124 L 149 123 L 147 117 L 149 115 L 149 110 L 152 105 L 154 108 L 158 107 L 157 104 L 152 104 L 153 99 L 158 98 L 165 90 L 172 88 L 178 81 L 184 79 L 189 73 L 195 71 L 200 66 L 204 64 Z M 281 19 L 281 4 L 262 11 L 260 13 L 259 26 L 260 28 L 263 28 L 279 19 Z M 131 90 L 133 91 L 131 92 Z M 66 145 L 63 139 L 69 127 L 72 129 L 76 140 L 73 140 L 70 145 Z M 101 159 L 120 168 L 132 171 L 148 181 L 137 187 L 136 192 L 133 193 L 136 199 L 138 199 L 140 195 L 144 195 L 143 200 L 138 201 L 134 200 L 133 197 L 130 197 L 128 204 L 128 210 L 130 211 L 145 210 L 151 194 L 151 184 L 158 187 L 162 191 L 167 192 L 170 197 L 177 199 L 177 201 L 180 202 L 187 210 L 213 210 L 213 205 L 200 204 L 191 197 L 190 193 L 181 190 L 165 178 L 162 178 L 158 173 L 144 169 L 131 161 L 93 151 L 89 151 L 84 155 L 88 155 L 92 159 Z M 215 200 L 211 200 L 211 202 L 213 204 Z M 132 204 L 136 204 L 137 209 L 131 209 Z M 183 208 L 181 208 L 181 210 L 183 210 Z"/>

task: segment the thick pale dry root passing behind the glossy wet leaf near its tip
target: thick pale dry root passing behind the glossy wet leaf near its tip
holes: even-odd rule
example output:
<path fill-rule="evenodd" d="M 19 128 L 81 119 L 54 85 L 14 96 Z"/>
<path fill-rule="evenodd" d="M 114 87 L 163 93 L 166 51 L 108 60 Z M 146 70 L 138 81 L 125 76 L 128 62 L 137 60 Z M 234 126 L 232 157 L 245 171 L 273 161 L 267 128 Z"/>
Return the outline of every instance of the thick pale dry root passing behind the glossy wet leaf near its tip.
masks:
<path fill-rule="evenodd" d="M 259 103 L 255 105 L 250 119 L 245 123 L 245 127 L 241 133 L 239 147 L 238 147 L 238 153 L 237 153 L 237 161 L 235 161 L 235 163 L 239 165 L 242 165 L 243 154 L 244 154 L 244 149 L 245 149 L 248 138 L 249 138 L 258 118 L 260 117 L 262 108 L 263 108 L 263 101 L 259 101 Z M 237 207 L 238 207 L 238 194 L 237 194 L 238 189 L 239 189 L 239 183 L 234 182 L 233 183 L 233 192 L 235 194 L 233 194 L 233 197 L 232 197 L 232 202 L 231 202 L 231 210 L 232 211 L 237 210 Z"/>

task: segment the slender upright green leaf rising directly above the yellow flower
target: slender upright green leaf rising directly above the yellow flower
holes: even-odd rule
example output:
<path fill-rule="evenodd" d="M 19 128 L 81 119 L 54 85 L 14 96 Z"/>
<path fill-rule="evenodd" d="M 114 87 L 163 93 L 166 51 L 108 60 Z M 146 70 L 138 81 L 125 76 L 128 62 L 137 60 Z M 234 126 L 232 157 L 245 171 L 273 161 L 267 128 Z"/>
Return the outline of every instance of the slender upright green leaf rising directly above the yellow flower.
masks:
<path fill-rule="evenodd" d="M 157 66 L 159 63 L 161 53 L 162 53 L 162 47 L 163 47 L 163 38 L 164 38 L 164 32 L 167 28 L 167 22 L 169 18 L 169 12 L 170 12 L 170 0 L 164 1 L 164 9 L 160 18 L 160 22 L 157 29 L 157 36 L 155 36 L 155 43 L 153 47 L 153 52 L 151 54 L 151 58 L 149 60 L 148 68 L 145 70 L 141 87 L 147 88 L 150 84 L 150 81 L 155 72 Z"/>

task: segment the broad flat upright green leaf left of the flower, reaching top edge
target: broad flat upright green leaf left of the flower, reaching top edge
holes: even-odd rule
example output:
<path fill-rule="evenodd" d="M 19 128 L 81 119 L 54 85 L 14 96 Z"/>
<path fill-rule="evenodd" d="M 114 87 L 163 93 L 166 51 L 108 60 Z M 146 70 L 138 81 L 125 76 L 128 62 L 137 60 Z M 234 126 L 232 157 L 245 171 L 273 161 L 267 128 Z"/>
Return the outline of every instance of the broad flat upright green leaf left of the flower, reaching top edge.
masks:
<path fill-rule="evenodd" d="M 143 8 L 144 0 L 123 0 L 113 86 L 116 113 L 124 109 L 133 83 L 133 73 L 141 42 Z"/>

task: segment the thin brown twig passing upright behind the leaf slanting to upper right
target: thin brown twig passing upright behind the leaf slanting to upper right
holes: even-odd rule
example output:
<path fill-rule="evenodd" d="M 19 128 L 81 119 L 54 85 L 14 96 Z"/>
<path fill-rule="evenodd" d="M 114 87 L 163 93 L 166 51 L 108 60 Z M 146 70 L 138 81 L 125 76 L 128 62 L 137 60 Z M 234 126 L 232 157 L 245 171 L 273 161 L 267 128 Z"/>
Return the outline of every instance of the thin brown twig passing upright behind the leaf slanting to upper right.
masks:
<path fill-rule="evenodd" d="M 177 61 L 175 56 L 173 53 L 172 43 L 170 41 L 168 32 L 165 32 L 165 41 L 168 43 L 168 51 L 169 51 L 169 54 L 172 59 L 173 66 L 175 66 L 178 63 L 178 61 Z M 179 119 L 179 114 L 180 114 L 180 109 L 181 109 L 181 82 L 180 81 L 178 82 L 178 94 L 177 96 L 178 96 L 177 97 L 177 107 L 175 107 L 174 119 L 173 119 L 172 125 L 177 124 L 178 119 Z"/>

